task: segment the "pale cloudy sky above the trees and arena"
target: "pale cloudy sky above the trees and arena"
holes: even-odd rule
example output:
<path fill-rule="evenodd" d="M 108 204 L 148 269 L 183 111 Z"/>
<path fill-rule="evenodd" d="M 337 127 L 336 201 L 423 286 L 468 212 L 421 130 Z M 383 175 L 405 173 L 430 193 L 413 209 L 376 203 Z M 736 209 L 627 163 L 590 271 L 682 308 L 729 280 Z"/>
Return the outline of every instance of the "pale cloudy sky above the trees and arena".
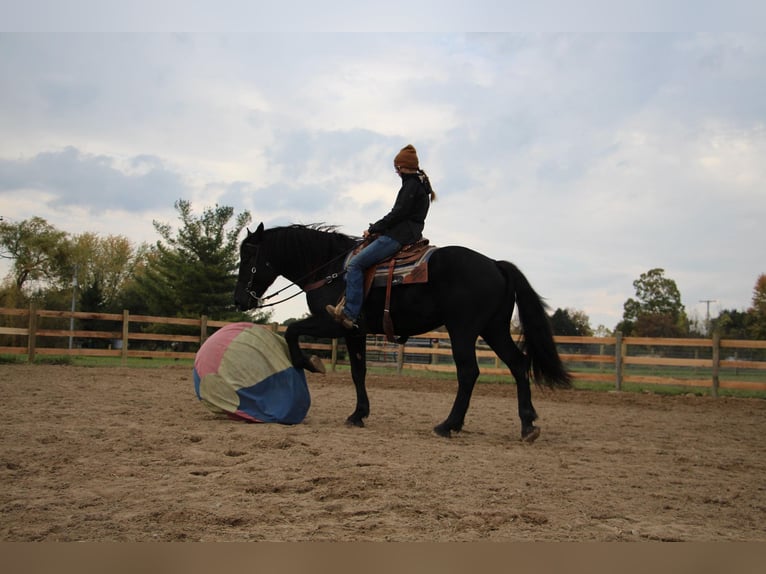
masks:
<path fill-rule="evenodd" d="M 711 316 L 747 308 L 766 273 L 758 31 L 474 33 L 458 19 L 354 32 L 232 18 L 211 30 L 199 7 L 173 28 L 146 14 L 86 25 L 76 11 L 30 23 L 9 20 L 9 6 L 5 221 L 40 216 L 138 244 L 159 239 L 153 221 L 177 228 L 173 204 L 188 199 L 197 214 L 248 210 L 251 228 L 324 222 L 359 235 L 391 208 L 393 157 L 411 143 L 438 195 L 431 243 L 513 261 L 552 310 L 583 311 L 594 328 L 614 328 L 653 268 L 697 318 L 703 300 Z M 273 317 L 305 312 L 299 297 Z"/>

